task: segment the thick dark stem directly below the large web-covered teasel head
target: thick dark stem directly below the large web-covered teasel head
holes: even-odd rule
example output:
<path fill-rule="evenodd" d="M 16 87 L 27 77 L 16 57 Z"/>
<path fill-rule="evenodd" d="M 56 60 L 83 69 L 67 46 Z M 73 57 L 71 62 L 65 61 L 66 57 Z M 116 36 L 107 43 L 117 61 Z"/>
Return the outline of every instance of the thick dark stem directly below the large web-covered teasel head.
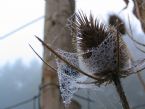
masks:
<path fill-rule="evenodd" d="M 120 81 L 120 78 L 118 77 L 118 75 L 114 74 L 112 77 L 112 80 L 113 80 L 114 85 L 116 87 L 117 93 L 120 97 L 120 101 L 122 103 L 123 108 L 130 109 L 127 98 L 125 96 L 125 93 L 124 93 L 124 90 L 122 87 L 122 84 L 121 84 L 121 81 Z"/>

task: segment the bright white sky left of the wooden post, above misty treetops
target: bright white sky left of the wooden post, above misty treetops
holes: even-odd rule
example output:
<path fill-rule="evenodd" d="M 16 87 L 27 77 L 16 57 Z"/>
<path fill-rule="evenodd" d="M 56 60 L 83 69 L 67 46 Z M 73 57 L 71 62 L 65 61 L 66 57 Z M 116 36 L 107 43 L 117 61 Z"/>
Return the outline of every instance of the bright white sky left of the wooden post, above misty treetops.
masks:
<path fill-rule="evenodd" d="M 0 38 L 22 25 L 44 16 L 44 5 L 44 0 L 0 0 Z M 32 44 L 40 55 L 42 54 L 41 44 L 35 40 L 34 35 L 43 37 L 43 24 L 44 19 L 42 18 L 0 40 L 0 65 L 6 62 L 13 63 L 15 59 L 19 58 L 27 64 L 31 59 L 38 59 L 28 43 Z"/>

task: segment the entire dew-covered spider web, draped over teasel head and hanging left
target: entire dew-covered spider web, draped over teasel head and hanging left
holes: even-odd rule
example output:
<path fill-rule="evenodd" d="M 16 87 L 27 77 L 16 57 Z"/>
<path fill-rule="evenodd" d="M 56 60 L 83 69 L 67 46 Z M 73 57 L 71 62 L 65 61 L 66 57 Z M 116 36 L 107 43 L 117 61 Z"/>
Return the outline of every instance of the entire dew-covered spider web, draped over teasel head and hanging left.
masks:
<path fill-rule="evenodd" d="M 82 71 L 90 74 L 101 73 L 108 70 L 114 71 L 117 67 L 117 37 L 109 35 L 98 47 L 89 50 L 91 56 L 83 58 L 83 53 L 70 53 L 63 50 L 57 50 L 69 63 L 75 67 L 80 68 Z M 137 72 L 145 66 L 145 60 L 130 63 L 127 48 L 123 41 L 119 40 L 119 56 L 120 56 L 120 70 L 125 73 Z M 95 84 L 80 84 L 90 81 L 88 77 L 80 74 L 78 71 L 72 69 L 69 65 L 65 64 L 61 59 L 57 59 L 57 73 L 59 78 L 60 92 L 65 104 L 69 104 L 71 99 L 78 91 L 79 88 L 94 87 Z M 83 67 L 81 67 L 83 64 Z M 84 70 L 87 69 L 87 70 Z M 97 87 L 97 86 L 95 86 Z"/>

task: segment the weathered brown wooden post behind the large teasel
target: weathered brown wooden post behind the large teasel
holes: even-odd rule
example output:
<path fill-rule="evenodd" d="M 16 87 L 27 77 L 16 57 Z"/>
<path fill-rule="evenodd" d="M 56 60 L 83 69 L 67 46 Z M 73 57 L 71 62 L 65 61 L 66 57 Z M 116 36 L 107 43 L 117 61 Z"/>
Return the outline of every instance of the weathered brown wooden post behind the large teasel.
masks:
<path fill-rule="evenodd" d="M 74 0 L 46 0 L 44 42 L 51 44 L 53 48 L 70 50 L 72 37 L 66 29 L 67 19 L 74 13 Z M 43 59 L 54 64 L 54 56 L 44 48 Z M 64 109 L 61 101 L 57 73 L 43 64 L 41 109 Z M 77 107 L 80 107 L 78 104 Z M 77 108 L 75 108 L 77 109 Z M 79 108 L 78 108 L 79 109 Z"/>

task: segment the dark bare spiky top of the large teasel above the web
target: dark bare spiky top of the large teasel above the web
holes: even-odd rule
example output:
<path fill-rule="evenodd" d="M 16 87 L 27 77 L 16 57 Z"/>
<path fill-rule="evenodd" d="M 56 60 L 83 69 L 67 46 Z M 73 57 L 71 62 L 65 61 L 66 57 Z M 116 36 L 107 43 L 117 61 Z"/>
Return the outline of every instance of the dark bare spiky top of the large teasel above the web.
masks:
<path fill-rule="evenodd" d="M 74 43 L 77 44 L 78 51 L 87 52 L 97 47 L 108 35 L 107 28 L 99 20 L 94 19 L 92 14 L 89 18 L 82 12 L 75 14 L 75 24 L 73 29 L 75 34 Z M 75 29 L 74 29 L 75 28 Z M 97 36 L 97 37 L 95 37 Z M 91 53 L 83 54 L 83 57 L 89 58 Z"/>

